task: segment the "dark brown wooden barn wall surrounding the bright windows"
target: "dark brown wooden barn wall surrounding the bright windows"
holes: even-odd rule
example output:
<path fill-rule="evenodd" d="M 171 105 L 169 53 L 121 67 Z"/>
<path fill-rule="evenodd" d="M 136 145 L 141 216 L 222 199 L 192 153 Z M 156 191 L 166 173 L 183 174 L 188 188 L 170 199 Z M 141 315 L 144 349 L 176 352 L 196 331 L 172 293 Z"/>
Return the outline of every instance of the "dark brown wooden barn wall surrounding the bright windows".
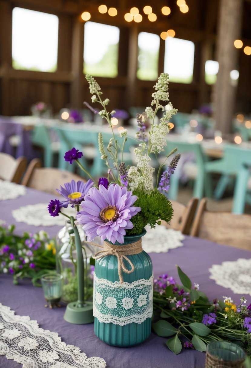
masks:
<path fill-rule="evenodd" d="M 96 78 L 102 86 L 103 95 L 110 99 L 110 109 L 149 106 L 155 82 L 139 81 L 136 78 L 138 33 L 145 31 L 160 34 L 163 29 L 170 28 L 175 29 L 177 38 L 195 43 L 194 80 L 191 84 L 170 83 L 170 100 L 174 107 L 183 112 L 191 112 L 203 103 L 211 102 L 212 87 L 204 82 L 204 65 L 205 60 L 214 57 L 218 2 L 219 0 L 193 0 L 186 16 L 175 11 L 170 21 L 160 20 L 150 26 L 135 22 L 128 24 L 122 18 L 112 19 L 97 11 L 95 14 L 92 12 L 92 21 L 120 27 L 119 75 L 116 78 Z M 88 2 L 89 8 L 94 9 L 95 5 L 96 9 L 98 5 L 95 1 L 91 3 Z M 176 1 L 171 3 L 176 6 Z M 63 107 L 81 109 L 84 100 L 91 102 L 88 84 L 82 73 L 84 22 L 79 19 L 79 15 L 85 4 L 82 0 L 0 0 L 0 115 L 29 115 L 31 105 L 38 101 L 52 105 L 53 113 L 59 112 Z M 22 71 L 11 67 L 11 18 L 15 6 L 44 11 L 59 17 L 56 72 Z M 159 73 L 163 71 L 164 52 L 165 41 L 160 40 Z M 245 60 L 240 64 L 243 68 L 248 65 L 250 64 Z M 243 88 L 239 86 L 238 93 L 240 96 L 243 95 L 243 90 L 248 93 L 244 103 L 244 108 L 247 109 L 248 102 L 251 101 L 250 83 L 248 89 L 247 79 L 240 77 L 240 81 Z M 237 105 L 241 108 L 238 95 Z"/>

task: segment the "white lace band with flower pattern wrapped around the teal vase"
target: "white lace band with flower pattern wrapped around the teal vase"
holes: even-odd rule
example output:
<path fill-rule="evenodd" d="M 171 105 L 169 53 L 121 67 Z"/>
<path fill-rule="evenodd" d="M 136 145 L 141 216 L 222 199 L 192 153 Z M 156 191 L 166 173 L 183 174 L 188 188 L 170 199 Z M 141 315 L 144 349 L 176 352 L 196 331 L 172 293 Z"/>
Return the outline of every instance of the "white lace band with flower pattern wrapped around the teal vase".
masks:
<path fill-rule="evenodd" d="M 93 316 L 114 325 L 142 323 L 152 317 L 153 275 L 132 283 L 111 282 L 93 275 Z"/>

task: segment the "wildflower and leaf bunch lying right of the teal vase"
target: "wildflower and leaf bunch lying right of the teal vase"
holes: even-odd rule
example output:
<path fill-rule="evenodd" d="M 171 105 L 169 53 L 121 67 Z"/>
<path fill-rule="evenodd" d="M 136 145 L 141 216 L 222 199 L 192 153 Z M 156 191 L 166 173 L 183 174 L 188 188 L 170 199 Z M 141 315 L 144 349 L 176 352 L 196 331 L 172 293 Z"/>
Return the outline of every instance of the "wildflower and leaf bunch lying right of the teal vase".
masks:
<path fill-rule="evenodd" d="M 240 304 L 224 297 L 224 300 L 208 297 L 192 287 L 191 280 L 178 268 L 181 285 L 167 274 L 154 280 L 153 308 L 158 322 L 152 324 L 159 336 L 169 337 L 166 345 L 178 354 L 182 346 L 206 351 L 212 341 L 231 341 L 247 350 L 251 357 L 251 304 L 242 297 Z"/>

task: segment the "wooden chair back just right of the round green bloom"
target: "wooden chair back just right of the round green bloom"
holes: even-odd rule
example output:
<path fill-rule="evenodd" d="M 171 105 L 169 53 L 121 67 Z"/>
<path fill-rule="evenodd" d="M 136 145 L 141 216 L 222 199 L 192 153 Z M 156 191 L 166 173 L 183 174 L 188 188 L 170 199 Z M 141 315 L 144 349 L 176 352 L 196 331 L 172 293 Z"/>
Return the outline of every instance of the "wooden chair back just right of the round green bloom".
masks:
<path fill-rule="evenodd" d="M 165 225 L 167 229 L 172 228 L 174 230 L 180 230 L 181 233 L 188 235 L 190 233 L 192 221 L 198 205 L 198 199 L 190 199 L 187 206 L 176 201 L 170 202 L 173 206 L 173 218 L 170 221 L 170 224 L 167 224 L 166 222 L 162 222 L 162 224 Z"/>

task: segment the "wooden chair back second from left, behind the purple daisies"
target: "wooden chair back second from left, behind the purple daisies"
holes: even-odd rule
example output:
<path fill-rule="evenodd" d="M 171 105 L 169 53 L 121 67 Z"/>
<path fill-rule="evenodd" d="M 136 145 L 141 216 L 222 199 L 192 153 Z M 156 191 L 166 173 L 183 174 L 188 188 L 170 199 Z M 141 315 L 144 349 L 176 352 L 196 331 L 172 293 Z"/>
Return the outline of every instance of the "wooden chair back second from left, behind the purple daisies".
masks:
<path fill-rule="evenodd" d="M 43 192 L 59 195 L 56 188 L 64 185 L 71 180 L 85 181 L 84 178 L 69 171 L 63 171 L 54 167 L 41 167 L 39 159 L 33 159 L 26 170 L 22 185 L 37 189 Z"/>

